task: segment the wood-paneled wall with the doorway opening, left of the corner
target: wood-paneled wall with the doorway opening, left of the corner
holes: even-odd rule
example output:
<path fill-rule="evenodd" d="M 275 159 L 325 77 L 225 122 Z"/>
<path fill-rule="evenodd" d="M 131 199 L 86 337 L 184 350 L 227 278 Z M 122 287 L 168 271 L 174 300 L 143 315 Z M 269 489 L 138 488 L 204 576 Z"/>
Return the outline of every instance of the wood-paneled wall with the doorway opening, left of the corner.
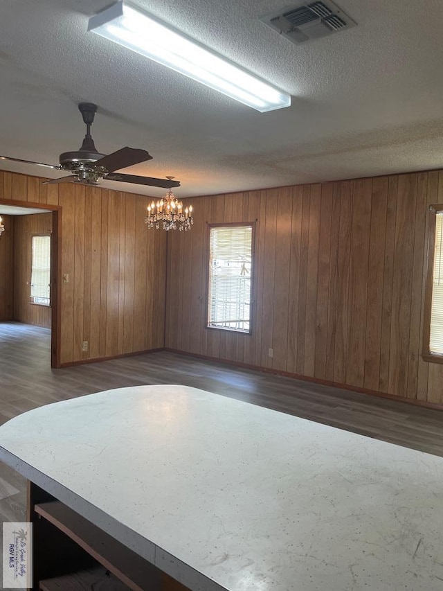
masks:
<path fill-rule="evenodd" d="M 152 198 L 41 181 L 0 171 L 0 200 L 61 207 L 61 363 L 163 347 L 167 237 L 145 226 Z"/>

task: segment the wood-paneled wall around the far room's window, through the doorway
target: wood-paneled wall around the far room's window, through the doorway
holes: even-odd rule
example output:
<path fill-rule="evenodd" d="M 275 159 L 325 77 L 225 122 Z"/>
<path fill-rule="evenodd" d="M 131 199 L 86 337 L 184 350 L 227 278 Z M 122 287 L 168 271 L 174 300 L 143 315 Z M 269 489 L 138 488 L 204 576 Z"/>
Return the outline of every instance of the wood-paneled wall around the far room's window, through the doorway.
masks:
<path fill-rule="evenodd" d="M 13 319 L 44 328 L 51 328 L 51 308 L 30 303 L 32 236 L 51 234 L 52 231 L 52 213 L 17 215 L 15 218 Z"/>

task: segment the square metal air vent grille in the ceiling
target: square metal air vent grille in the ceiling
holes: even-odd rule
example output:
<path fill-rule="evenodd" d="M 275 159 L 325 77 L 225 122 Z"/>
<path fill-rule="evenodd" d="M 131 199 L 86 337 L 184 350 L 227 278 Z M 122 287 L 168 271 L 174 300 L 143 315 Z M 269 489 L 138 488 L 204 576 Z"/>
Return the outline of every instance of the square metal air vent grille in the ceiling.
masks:
<path fill-rule="evenodd" d="M 293 43 L 305 43 L 356 26 L 331 0 L 299 3 L 264 15 L 260 20 Z"/>

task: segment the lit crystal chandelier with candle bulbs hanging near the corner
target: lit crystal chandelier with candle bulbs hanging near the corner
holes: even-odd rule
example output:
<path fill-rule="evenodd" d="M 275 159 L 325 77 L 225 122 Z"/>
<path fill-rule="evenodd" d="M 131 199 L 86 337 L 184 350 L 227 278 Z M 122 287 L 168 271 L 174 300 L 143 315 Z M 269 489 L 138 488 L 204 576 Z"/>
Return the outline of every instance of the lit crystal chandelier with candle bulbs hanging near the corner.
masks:
<path fill-rule="evenodd" d="M 172 179 L 174 177 L 166 177 Z M 183 203 L 177 199 L 177 197 L 169 189 L 165 197 L 161 200 L 154 202 L 147 206 L 147 215 L 145 218 L 145 224 L 148 228 L 160 227 L 163 230 L 190 230 L 194 218 L 192 218 L 192 205 L 187 206 L 183 211 Z"/>

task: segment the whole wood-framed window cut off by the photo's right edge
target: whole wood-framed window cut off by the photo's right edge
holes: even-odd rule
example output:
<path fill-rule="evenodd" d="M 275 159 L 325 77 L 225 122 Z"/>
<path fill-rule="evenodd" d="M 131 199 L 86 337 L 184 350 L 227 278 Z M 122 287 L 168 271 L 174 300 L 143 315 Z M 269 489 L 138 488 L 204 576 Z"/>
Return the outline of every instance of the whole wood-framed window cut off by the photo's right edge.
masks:
<path fill-rule="evenodd" d="M 425 318 L 424 356 L 443 362 L 443 205 L 430 211 Z"/>

